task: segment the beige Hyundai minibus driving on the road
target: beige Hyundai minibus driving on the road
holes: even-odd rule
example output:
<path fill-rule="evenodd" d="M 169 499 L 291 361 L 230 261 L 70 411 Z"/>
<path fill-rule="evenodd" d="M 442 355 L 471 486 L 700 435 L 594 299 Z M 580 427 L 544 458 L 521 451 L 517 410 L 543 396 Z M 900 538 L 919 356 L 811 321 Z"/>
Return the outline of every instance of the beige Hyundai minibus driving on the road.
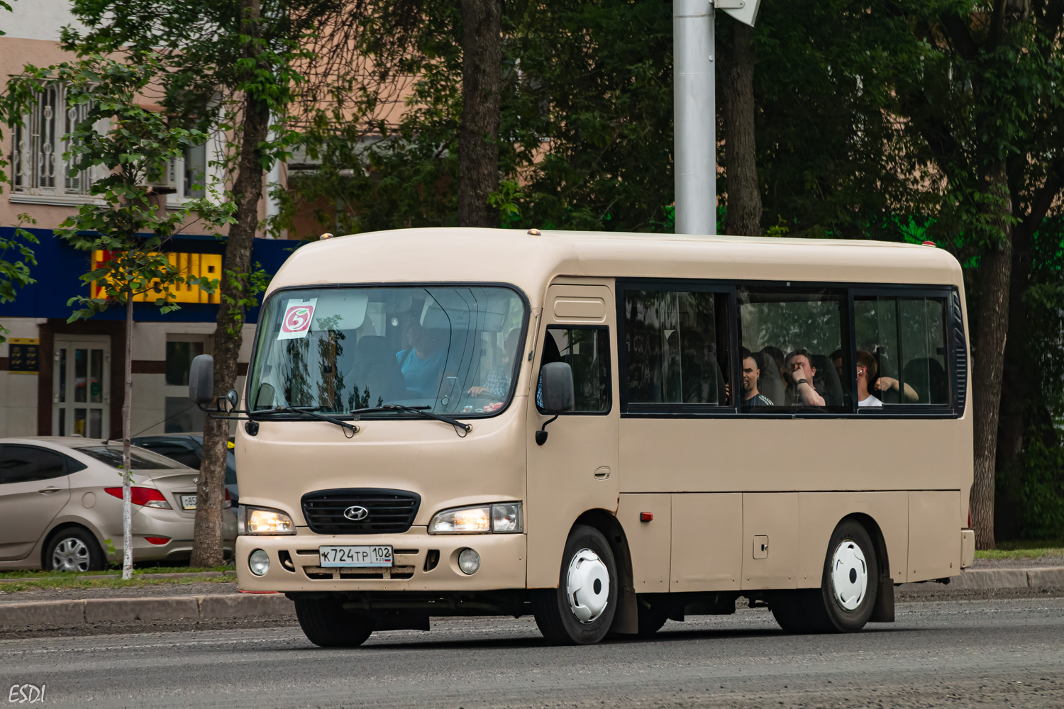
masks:
<path fill-rule="evenodd" d="M 896 585 L 975 555 L 964 313 L 933 244 L 302 247 L 215 408 L 240 420 L 240 588 L 285 593 L 323 646 L 488 614 L 594 643 L 739 596 L 793 632 L 891 622 Z"/>

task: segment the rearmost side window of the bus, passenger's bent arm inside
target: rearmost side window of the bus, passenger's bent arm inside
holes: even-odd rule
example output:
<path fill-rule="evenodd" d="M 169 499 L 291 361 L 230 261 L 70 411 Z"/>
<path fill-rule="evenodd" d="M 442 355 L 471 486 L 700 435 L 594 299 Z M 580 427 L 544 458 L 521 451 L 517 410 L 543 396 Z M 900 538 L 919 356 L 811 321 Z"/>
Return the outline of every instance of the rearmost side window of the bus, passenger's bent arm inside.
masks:
<path fill-rule="evenodd" d="M 853 310 L 859 406 L 949 404 L 945 296 L 859 296 Z"/>

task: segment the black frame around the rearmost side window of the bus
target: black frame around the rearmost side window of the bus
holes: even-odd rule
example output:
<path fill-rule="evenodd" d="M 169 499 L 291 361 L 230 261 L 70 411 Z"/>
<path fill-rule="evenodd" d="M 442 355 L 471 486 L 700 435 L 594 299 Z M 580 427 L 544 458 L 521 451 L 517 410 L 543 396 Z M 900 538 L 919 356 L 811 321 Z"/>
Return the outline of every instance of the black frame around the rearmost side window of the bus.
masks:
<path fill-rule="evenodd" d="M 958 412 L 958 394 L 957 394 L 957 382 L 958 382 L 958 344 L 955 342 L 955 337 L 953 330 L 961 327 L 963 333 L 963 321 L 958 323 L 954 322 L 953 314 L 951 313 L 952 299 L 957 296 L 960 300 L 960 294 L 955 286 L 918 286 L 918 285 L 875 285 L 870 287 L 864 286 L 851 286 L 850 287 L 850 358 L 851 361 L 857 357 L 857 310 L 853 307 L 855 300 L 861 298 L 936 298 L 943 300 L 943 330 L 945 335 L 944 347 L 946 348 L 946 377 L 948 383 L 947 391 L 949 392 L 949 402 L 946 404 L 887 404 L 883 407 L 865 407 L 859 408 L 857 405 L 857 396 L 853 398 L 853 413 L 860 418 L 959 418 L 963 415 L 963 405 L 960 407 L 960 412 Z M 964 347 L 961 342 L 960 347 Z M 900 368 L 902 362 L 898 362 Z M 857 393 L 857 368 L 853 367 L 852 379 L 853 379 L 853 392 Z"/>

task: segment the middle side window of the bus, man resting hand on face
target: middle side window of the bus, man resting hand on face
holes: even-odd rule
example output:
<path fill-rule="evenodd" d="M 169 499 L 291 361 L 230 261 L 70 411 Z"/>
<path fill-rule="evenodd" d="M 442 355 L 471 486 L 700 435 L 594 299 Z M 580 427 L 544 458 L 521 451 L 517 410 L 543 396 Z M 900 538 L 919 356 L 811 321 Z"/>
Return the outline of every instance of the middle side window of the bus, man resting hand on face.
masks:
<path fill-rule="evenodd" d="M 737 297 L 739 409 L 849 410 L 846 292 L 746 287 Z"/>

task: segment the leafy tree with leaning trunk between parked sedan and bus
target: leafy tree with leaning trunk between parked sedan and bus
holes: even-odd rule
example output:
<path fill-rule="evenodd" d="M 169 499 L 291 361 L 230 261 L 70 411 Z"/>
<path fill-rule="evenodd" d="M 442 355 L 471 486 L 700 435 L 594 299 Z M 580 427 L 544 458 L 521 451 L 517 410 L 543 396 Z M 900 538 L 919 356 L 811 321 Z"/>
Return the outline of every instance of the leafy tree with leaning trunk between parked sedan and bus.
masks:
<path fill-rule="evenodd" d="M 251 263 L 264 175 L 286 155 L 293 90 L 311 70 L 319 26 L 343 14 L 344 0 L 73 0 L 86 30 L 63 45 L 79 55 L 120 53 L 159 62 L 167 112 L 225 139 L 219 163 L 232 202 L 221 306 L 215 327 L 215 393 L 236 386 L 245 311 L 256 303 L 261 274 Z M 335 21 L 333 26 L 335 26 Z M 149 58 L 150 57 L 150 58 Z M 195 565 L 222 562 L 226 421 L 203 424 L 196 509 Z"/>

